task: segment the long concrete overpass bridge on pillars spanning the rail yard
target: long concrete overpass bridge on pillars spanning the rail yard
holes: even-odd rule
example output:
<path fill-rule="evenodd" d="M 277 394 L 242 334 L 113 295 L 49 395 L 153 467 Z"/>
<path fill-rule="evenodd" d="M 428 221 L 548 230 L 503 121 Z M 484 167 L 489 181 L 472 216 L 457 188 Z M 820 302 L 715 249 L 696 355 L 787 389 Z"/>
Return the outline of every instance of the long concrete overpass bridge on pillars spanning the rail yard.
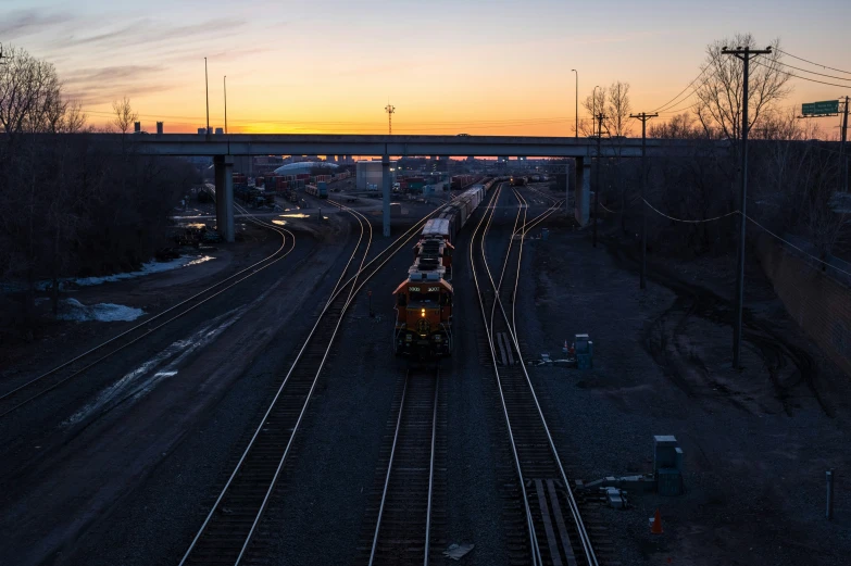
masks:
<path fill-rule="evenodd" d="M 101 138 L 121 135 L 98 135 Z M 126 141 L 126 140 L 125 140 Z M 700 142 L 706 148 L 706 142 Z M 480 158 L 571 158 L 576 160 L 574 214 L 580 224 L 588 222 L 591 158 L 598 156 L 596 138 L 525 136 L 363 136 L 318 134 L 134 134 L 136 151 L 155 155 L 212 156 L 215 164 L 216 222 L 225 240 L 234 240 L 234 187 L 231 173 L 237 155 L 363 155 L 380 156 L 385 179 L 391 156 L 467 156 Z M 711 142 L 726 148 L 729 141 Z M 696 143 L 689 140 L 648 139 L 648 156 L 693 154 Z M 604 138 L 600 156 L 638 158 L 640 138 Z M 390 188 L 384 183 L 384 234 L 390 235 Z"/>

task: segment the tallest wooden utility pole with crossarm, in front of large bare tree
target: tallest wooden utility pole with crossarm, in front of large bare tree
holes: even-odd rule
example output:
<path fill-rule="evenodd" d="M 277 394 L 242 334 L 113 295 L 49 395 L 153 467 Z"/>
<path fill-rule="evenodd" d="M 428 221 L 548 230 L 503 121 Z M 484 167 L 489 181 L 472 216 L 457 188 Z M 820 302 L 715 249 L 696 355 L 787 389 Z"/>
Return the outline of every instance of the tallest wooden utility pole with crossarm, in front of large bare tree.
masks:
<path fill-rule="evenodd" d="M 741 359 L 741 311 L 744 304 L 744 229 L 748 224 L 746 215 L 748 204 L 748 79 L 750 78 L 751 59 L 768 54 L 772 48 L 751 49 L 750 46 L 736 49 L 722 49 L 722 54 L 734 55 L 744 63 L 744 79 L 742 86 L 742 110 L 741 110 L 741 194 L 739 202 L 739 257 L 738 273 L 736 274 L 736 315 L 733 322 L 733 368 L 739 368 Z"/>

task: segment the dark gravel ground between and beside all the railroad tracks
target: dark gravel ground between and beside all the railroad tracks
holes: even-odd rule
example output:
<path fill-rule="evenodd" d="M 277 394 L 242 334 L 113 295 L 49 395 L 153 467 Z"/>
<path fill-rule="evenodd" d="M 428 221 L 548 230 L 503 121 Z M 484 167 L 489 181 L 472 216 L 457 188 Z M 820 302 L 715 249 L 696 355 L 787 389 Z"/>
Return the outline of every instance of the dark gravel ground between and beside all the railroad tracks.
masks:
<path fill-rule="evenodd" d="M 543 210 L 541 199 L 533 201 L 530 215 Z M 489 243 L 492 262 L 506 242 L 498 236 L 506 236 L 515 213 L 510 191 L 501 204 L 495 223 L 502 228 Z M 453 285 L 463 328 L 441 374 L 448 380 L 443 536 L 447 543 L 476 544 L 461 564 L 486 565 L 505 562 L 503 505 L 496 494 L 510 462 L 492 401 L 492 369 L 479 362 L 480 314 L 466 260 L 481 212 L 458 240 L 463 261 L 455 262 Z M 558 357 L 577 332 L 595 340 L 591 372 L 530 370 L 570 461 L 568 475 L 592 480 L 649 471 L 658 433 L 675 435 L 686 452 L 685 495 L 630 493 L 631 508 L 604 511 L 611 521 L 605 537 L 621 548 L 622 564 L 847 564 L 847 376 L 801 337 L 758 267 L 749 272 L 746 369 L 734 373 L 727 369 L 726 260 L 668 262 L 667 273 L 651 263 L 649 287 L 639 291 L 628 247 L 606 237 L 592 249 L 588 231 L 575 230 L 564 213 L 542 226 L 551 229 L 549 240 L 530 238 L 524 248 L 523 273 L 531 276 L 522 279 L 517 304 L 524 355 Z M 379 231 L 376 225 L 380 240 Z M 539 234 L 540 227 L 530 236 Z M 303 255 L 285 260 L 255 287 L 211 305 L 216 315 L 252 306 L 245 316 L 231 313 L 237 319 L 222 339 L 183 360 L 175 376 L 142 397 L 121 397 L 85 425 L 58 426 L 105 383 L 204 327 L 210 314 L 93 373 L 73 394 L 48 397 L 32 415 L 0 422 L 8 439 L 0 446 L 0 538 L 11 563 L 179 562 L 312 324 L 304 313 L 314 314 L 327 298 L 352 244 L 341 232 L 323 246 L 305 246 Z M 383 435 L 403 377 L 390 352 L 390 293 L 410 262 L 403 251 L 367 286 L 375 318 L 365 297 L 352 304 L 320 379 L 273 502 L 274 513 L 286 518 L 271 537 L 280 564 L 348 564 L 359 555 L 370 490 L 383 473 L 376 469 Z M 160 276 L 153 277 L 145 285 L 157 288 Z M 127 288 L 109 291 L 113 302 L 135 305 L 132 293 L 140 284 L 116 285 Z M 189 290 L 176 287 L 172 294 L 163 287 L 157 291 L 165 297 L 162 304 Z M 151 297 L 153 290 L 139 304 Z M 104 332 L 58 341 L 51 357 L 63 359 Z M 32 354 L 21 360 L 29 365 L 21 363 L 17 379 L 39 365 Z M 828 467 L 840 474 L 833 523 L 824 519 Z M 647 519 L 656 507 L 665 533 L 651 538 Z"/>

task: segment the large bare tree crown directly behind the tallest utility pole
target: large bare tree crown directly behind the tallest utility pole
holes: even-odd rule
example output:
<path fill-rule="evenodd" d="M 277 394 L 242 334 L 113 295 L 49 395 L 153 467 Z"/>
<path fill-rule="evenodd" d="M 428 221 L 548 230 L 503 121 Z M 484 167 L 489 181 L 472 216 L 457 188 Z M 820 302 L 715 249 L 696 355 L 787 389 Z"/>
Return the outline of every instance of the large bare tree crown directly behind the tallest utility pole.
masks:
<path fill-rule="evenodd" d="M 706 62 L 701 67 L 703 78 L 696 89 L 694 113 L 706 133 L 717 129 L 723 137 L 738 139 L 742 128 L 743 62 L 723 54 L 725 47 L 755 48 L 756 42 L 750 34 L 739 34 L 706 47 Z M 751 61 L 748 131 L 792 90 L 789 86 L 792 75 L 779 64 L 783 56 L 779 47 L 780 40 L 775 39 L 771 54 Z"/>

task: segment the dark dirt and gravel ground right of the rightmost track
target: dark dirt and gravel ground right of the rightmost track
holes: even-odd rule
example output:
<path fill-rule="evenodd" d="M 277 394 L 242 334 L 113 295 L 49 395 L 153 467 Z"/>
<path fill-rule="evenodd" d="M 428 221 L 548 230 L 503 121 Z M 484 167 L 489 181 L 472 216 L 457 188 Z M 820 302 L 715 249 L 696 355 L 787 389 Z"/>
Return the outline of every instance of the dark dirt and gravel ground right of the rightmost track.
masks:
<path fill-rule="evenodd" d="M 623 564 L 847 563 L 851 486 L 825 513 L 825 470 L 848 469 L 849 382 L 783 311 L 750 265 L 743 369 L 730 369 L 727 259 L 636 264 L 621 244 L 591 248 L 562 215 L 524 251 L 524 334 L 558 356 L 565 339 L 595 341 L 589 372 L 534 368 L 560 450 L 584 480 L 652 470 L 652 436 L 686 454 L 679 498 L 630 493 L 606 510 Z M 608 248 L 608 251 L 606 251 Z M 651 536 L 660 508 L 665 533 Z"/>

